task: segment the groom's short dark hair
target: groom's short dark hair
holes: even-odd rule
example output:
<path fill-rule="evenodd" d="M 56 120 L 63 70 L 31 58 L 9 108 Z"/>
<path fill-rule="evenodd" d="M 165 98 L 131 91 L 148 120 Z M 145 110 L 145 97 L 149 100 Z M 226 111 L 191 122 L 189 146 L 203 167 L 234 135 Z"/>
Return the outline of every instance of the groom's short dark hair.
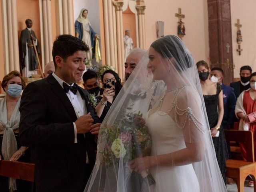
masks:
<path fill-rule="evenodd" d="M 56 68 L 55 57 L 60 56 L 66 62 L 68 56 L 73 55 L 77 51 L 88 51 L 89 47 L 82 40 L 72 35 L 60 35 L 56 38 L 52 47 L 52 58 Z"/>

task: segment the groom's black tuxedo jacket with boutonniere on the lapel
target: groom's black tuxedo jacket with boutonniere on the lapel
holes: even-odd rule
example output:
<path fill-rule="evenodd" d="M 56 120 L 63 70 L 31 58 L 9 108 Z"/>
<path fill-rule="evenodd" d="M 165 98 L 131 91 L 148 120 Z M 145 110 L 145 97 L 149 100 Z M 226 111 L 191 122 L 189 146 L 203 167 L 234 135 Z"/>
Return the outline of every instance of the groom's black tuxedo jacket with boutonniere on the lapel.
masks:
<path fill-rule="evenodd" d="M 78 88 L 94 123 L 99 122 L 88 105 L 88 92 Z M 80 192 L 84 190 L 86 152 L 95 163 L 95 136 L 77 134 L 76 113 L 57 80 L 52 76 L 26 86 L 20 102 L 19 138 L 22 146 L 32 148 L 36 192 Z"/>

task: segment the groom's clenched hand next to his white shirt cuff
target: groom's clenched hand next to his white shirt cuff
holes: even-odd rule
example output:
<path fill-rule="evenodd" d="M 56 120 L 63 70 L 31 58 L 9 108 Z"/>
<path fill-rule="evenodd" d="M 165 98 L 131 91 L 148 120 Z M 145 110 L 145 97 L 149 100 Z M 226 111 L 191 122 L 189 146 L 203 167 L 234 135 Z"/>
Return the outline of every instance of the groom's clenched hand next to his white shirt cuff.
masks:
<path fill-rule="evenodd" d="M 77 133 L 81 134 L 81 133 L 89 132 L 90 129 L 91 129 L 93 121 L 94 120 L 93 120 L 90 112 L 88 114 L 86 114 L 86 115 L 80 116 L 75 121 Z"/>

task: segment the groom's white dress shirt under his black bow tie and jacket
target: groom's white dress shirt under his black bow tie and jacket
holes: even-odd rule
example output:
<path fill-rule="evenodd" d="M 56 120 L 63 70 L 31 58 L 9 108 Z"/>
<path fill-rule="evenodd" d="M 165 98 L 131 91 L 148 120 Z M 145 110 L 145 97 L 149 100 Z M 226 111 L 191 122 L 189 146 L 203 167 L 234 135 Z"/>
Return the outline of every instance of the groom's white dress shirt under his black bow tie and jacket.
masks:
<path fill-rule="evenodd" d="M 61 78 L 59 78 L 54 72 L 52 73 L 52 76 L 54 76 L 54 78 L 58 81 L 60 86 L 63 88 L 63 82 L 64 83 L 66 83 L 66 82 L 63 81 Z M 66 84 L 68 84 L 68 83 L 66 83 Z M 73 86 L 73 83 L 70 86 Z M 82 99 L 82 96 L 79 91 L 76 92 L 76 95 L 73 92 L 71 92 L 70 90 L 66 94 L 76 112 L 77 118 L 79 118 L 80 116 L 87 113 L 87 109 L 85 107 L 86 106 L 85 100 Z M 75 133 L 74 142 L 77 143 L 77 130 L 76 130 L 75 122 L 73 122 L 73 125 L 74 125 L 74 133 Z"/>

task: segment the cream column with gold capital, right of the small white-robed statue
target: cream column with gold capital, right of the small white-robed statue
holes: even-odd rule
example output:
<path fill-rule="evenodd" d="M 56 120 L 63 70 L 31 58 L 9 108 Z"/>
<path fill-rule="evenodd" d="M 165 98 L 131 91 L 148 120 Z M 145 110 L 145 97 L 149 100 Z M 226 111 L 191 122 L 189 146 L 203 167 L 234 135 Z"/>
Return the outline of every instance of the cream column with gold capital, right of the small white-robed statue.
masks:
<path fill-rule="evenodd" d="M 146 38 L 145 38 L 145 9 L 146 6 L 138 5 L 136 10 L 138 13 L 138 24 L 139 24 L 139 47 L 146 49 Z"/>

